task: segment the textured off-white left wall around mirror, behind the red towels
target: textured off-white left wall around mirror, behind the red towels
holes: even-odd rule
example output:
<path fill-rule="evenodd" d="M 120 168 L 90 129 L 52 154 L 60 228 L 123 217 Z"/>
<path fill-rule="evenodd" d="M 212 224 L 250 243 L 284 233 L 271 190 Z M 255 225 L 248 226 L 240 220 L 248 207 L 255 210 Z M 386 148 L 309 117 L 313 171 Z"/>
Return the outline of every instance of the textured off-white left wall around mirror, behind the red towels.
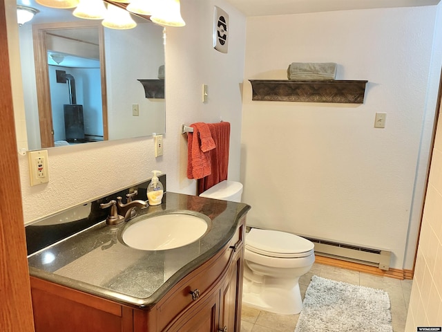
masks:
<path fill-rule="evenodd" d="M 12 8 L 14 1 L 8 1 Z M 187 144 L 181 125 L 197 121 L 231 122 L 229 178 L 239 180 L 245 18 L 222 0 L 182 0 L 181 4 L 186 26 L 166 29 L 164 156 L 155 159 L 152 138 L 57 147 L 48 151 L 49 183 L 35 187 L 29 185 L 28 157 L 19 156 L 25 222 L 144 181 L 153 169 L 166 172 L 169 191 L 195 194 L 196 182 L 186 178 Z M 231 19 L 227 54 L 212 47 L 215 5 Z M 17 52 L 15 46 L 12 53 Z M 15 76 L 20 76 L 18 71 Z M 201 102 L 202 84 L 209 85 L 207 104 Z"/>

